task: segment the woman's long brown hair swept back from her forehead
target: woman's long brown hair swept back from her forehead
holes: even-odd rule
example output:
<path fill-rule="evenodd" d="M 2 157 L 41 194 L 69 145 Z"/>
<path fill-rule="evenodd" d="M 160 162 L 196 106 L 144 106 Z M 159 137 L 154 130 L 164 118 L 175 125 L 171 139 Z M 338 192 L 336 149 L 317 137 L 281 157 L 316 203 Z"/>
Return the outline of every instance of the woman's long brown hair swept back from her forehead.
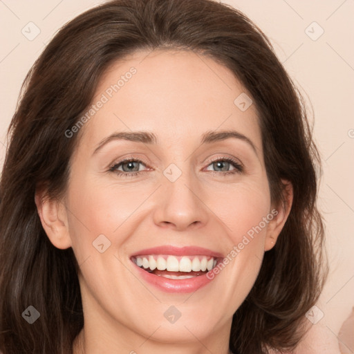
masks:
<path fill-rule="evenodd" d="M 281 201 L 281 178 L 293 185 L 288 220 L 234 314 L 230 349 L 241 354 L 292 349 L 303 335 L 326 267 L 316 206 L 319 154 L 299 91 L 263 32 L 231 6 L 212 0 L 115 0 L 59 30 L 21 88 L 0 183 L 3 354 L 72 353 L 84 324 L 79 266 L 72 248 L 59 250 L 48 240 L 35 191 L 45 186 L 50 198 L 64 194 L 79 140 L 79 134 L 67 138 L 65 132 L 91 104 L 106 69 L 135 50 L 156 48 L 194 50 L 229 68 L 259 111 L 272 201 Z M 28 306 L 40 313 L 33 324 L 22 317 Z"/>

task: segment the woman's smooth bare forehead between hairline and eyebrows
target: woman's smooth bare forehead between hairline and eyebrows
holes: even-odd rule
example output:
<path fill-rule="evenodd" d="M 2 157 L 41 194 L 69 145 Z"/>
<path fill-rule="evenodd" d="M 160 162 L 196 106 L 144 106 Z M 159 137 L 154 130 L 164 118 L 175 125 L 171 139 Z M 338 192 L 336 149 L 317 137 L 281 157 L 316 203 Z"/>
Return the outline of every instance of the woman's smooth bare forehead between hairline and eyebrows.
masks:
<path fill-rule="evenodd" d="M 241 110 L 244 97 L 250 95 L 233 73 L 209 57 L 140 50 L 102 75 L 83 138 L 95 145 L 115 131 L 139 130 L 153 131 L 161 144 L 187 144 L 205 131 L 237 129 L 261 149 L 257 109 Z"/>

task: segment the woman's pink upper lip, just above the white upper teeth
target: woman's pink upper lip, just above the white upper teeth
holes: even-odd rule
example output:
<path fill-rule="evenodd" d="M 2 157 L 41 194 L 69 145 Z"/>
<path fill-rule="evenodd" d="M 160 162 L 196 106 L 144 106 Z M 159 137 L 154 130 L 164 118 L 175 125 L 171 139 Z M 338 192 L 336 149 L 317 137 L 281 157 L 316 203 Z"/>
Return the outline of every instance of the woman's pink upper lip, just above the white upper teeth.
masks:
<path fill-rule="evenodd" d="M 153 248 L 145 248 L 138 252 L 131 254 L 131 257 L 136 257 L 144 254 L 170 254 L 171 256 L 210 256 L 214 258 L 221 258 L 223 254 L 220 252 L 215 252 L 207 248 L 198 247 L 198 246 L 184 246 L 176 247 L 173 245 L 161 245 Z"/>

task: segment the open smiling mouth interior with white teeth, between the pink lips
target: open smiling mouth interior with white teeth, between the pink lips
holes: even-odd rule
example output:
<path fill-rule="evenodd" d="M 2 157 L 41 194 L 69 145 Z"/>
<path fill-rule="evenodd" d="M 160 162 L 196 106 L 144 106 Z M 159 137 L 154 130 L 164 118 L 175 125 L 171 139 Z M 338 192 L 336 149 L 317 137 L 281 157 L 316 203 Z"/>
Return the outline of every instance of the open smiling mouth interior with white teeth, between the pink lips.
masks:
<path fill-rule="evenodd" d="M 168 279 L 189 279 L 207 274 L 218 263 L 218 258 L 195 255 L 173 256 L 169 254 L 145 254 L 131 257 L 139 268 Z"/>

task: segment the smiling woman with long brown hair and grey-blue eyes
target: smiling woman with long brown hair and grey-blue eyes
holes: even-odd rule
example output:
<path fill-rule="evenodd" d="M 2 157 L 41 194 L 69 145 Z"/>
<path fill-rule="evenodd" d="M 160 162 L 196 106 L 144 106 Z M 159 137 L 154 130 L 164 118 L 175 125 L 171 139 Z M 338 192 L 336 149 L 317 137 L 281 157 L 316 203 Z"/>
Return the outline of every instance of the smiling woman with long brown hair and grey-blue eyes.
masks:
<path fill-rule="evenodd" d="M 245 15 L 88 10 L 28 73 L 9 133 L 3 354 L 295 350 L 326 274 L 319 160 Z"/>

